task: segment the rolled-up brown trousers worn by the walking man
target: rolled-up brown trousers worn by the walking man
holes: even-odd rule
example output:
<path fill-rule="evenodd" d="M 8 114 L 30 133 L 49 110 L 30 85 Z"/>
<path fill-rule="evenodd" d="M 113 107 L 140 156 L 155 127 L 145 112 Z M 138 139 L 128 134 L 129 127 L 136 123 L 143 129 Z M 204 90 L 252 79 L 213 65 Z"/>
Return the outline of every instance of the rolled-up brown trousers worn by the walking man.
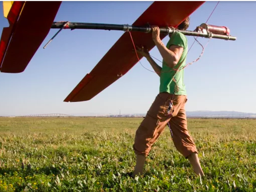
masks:
<path fill-rule="evenodd" d="M 167 114 L 173 96 L 172 115 Z M 157 141 L 169 122 L 172 130 L 173 143 L 176 149 L 187 158 L 191 153 L 198 153 L 192 137 L 187 129 L 185 103 L 187 96 L 159 93 L 147 112 L 135 135 L 133 149 L 135 154 L 148 156 L 151 146 Z"/>

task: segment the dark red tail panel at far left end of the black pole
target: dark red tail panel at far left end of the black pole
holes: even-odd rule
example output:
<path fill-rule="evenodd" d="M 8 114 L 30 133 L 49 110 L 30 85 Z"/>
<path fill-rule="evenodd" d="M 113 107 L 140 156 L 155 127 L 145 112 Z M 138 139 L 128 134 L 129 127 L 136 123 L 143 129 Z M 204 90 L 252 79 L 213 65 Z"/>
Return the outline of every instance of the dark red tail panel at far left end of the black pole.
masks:
<path fill-rule="evenodd" d="M 25 70 L 48 35 L 61 1 L 26 1 L 5 53 L 1 72 Z"/>

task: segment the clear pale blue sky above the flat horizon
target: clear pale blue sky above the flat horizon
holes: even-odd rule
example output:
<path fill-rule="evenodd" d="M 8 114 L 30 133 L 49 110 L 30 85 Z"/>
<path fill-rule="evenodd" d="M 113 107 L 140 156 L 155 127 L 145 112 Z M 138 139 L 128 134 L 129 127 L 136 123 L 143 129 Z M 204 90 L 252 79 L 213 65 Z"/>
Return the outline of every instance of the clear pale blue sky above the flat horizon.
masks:
<path fill-rule="evenodd" d="M 188 30 L 205 23 L 218 1 L 207 1 L 191 15 Z M 132 24 L 153 1 L 63 1 L 54 21 Z M 2 2 L 1 2 L 2 4 Z M 255 64 L 256 2 L 221 1 L 208 24 L 226 26 L 237 41 L 211 39 L 203 56 L 185 69 L 187 111 L 256 113 Z M 8 26 L 0 17 L 0 28 Z M 0 73 L 0 115 L 146 113 L 159 91 L 159 76 L 136 64 L 125 76 L 90 101 L 63 100 L 94 68 L 123 31 L 50 30 L 23 73 Z M 208 39 L 198 38 L 206 45 Z M 163 39 L 167 43 L 168 37 Z M 188 37 L 189 47 L 194 38 Z M 187 62 L 199 57 L 195 43 Z M 150 54 L 161 60 L 156 47 Z M 146 59 L 144 67 L 152 70 Z M 159 65 L 162 65 L 157 61 Z"/>

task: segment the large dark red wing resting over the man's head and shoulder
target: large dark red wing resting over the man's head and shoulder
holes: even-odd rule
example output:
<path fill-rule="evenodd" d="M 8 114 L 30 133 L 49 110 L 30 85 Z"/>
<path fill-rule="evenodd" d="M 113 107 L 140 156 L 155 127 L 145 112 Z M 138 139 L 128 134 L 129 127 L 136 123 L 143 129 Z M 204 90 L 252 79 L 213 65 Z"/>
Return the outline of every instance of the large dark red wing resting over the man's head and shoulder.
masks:
<path fill-rule="evenodd" d="M 143 26 L 149 23 L 159 27 L 177 27 L 203 3 L 204 1 L 155 1 L 132 25 Z M 143 45 L 148 50 L 155 46 L 151 33 L 131 32 L 131 34 L 135 45 Z M 163 39 L 166 35 L 161 34 L 160 37 Z M 94 67 L 90 73 L 91 77 L 87 78 L 87 74 L 64 101 L 90 100 L 118 80 L 120 75 L 127 73 L 138 62 L 133 49 L 131 37 L 125 32 Z"/>

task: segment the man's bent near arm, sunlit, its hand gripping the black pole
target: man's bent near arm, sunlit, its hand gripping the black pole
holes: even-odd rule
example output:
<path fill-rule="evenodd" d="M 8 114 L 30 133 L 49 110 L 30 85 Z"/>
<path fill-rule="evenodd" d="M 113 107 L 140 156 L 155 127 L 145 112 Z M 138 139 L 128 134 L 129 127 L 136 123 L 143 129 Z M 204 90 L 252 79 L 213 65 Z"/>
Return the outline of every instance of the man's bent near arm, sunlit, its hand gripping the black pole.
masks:
<path fill-rule="evenodd" d="M 162 55 L 163 60 L 170 68 L 173 68 L 175 65 L 178 64 L 184 48 L 177 45 L 171 45 L 169 49 L 167 49 L 166 46 L 163 45 L 163 42 L 159 37 L 159 27 L 153 26 L 152 31 L 153 41 L 155 42 L 155 45 L 157 46 L 160 54 Z"/>

